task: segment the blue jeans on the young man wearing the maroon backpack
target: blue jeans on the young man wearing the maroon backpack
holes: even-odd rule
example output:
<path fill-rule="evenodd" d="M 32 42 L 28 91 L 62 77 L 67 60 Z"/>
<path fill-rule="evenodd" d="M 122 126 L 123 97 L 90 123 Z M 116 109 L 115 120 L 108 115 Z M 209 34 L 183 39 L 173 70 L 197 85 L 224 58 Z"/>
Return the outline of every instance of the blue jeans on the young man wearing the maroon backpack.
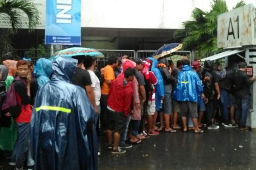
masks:
<path fill-rule="evenodd" d="M 15 141 L 11 162 L 16 163 L 16 168 L 24 167 L 30 139 L 30 123 L 15 122 L 18 130 L 18 137 Z M 29 160 L 30 161 L 30 160 Z"/>

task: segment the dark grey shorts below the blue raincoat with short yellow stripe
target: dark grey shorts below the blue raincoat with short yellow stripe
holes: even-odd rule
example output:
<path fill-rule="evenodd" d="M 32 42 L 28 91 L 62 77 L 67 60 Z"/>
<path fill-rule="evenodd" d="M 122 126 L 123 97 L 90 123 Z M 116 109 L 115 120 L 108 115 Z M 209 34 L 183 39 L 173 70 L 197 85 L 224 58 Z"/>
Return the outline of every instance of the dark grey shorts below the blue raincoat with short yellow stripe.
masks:
<path fill-rule="evenodd" d="M 196 102 L 188 102 L 188 101 L 182 101 L 180 102 L 181 107 L 181 116 L 187 117 L 188 114 L 191 118 L 197 118 L 197 103 Z"/>

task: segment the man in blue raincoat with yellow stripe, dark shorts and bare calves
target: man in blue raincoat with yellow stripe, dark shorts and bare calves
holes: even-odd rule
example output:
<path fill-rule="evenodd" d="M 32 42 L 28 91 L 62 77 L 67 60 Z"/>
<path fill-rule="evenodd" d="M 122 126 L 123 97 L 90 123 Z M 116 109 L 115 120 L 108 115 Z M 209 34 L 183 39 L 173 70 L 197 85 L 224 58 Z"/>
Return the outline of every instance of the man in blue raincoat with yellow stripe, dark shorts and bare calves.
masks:
<path fill-rule="evenodd" d="M 195 133 L 203 133 L 203 130 L 198 128 L 198 113 L 197 113 L 197 102 L 198 93 L 201 94 L 202 98 L 205 99 L 203 95 L 203 87 L 201 81 L 196 72 L 192 70 L 189 66 L 190 62 L 188 60 L 183 60 L 182 71 L 178 75 L 178 83 L 174 91 L 174 95 L 177 101 L 180 102 L 183 131 L 186 132 L 187 129 L 187 116 L 190 114 L 192 118 Z"/>

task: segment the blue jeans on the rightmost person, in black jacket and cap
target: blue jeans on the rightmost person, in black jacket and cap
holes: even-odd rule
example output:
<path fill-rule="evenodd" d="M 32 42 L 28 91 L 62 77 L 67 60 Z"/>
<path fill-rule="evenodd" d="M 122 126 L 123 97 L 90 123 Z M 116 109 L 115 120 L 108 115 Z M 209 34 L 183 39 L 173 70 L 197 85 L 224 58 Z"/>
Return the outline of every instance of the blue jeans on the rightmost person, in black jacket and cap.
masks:
<path fill-rule="evenodd" d="M 236 122 L 240 124 L 241 128 L 246 125 L 247 114 L 250 107 L 251 96 L 245 95 L 242 99 L 237 99 L 237 113 Z"/>

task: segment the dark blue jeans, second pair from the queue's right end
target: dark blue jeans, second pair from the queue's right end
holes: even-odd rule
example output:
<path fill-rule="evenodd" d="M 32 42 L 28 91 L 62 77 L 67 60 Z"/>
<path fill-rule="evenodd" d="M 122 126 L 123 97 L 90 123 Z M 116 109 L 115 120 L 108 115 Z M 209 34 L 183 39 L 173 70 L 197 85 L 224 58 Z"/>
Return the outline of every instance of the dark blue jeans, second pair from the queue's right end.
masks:
<path fill-rule="evenodd" d="M 229 111 L 228 111 L 228 90 L 226 89 L 220 89 L 221 90 L 221 108 L 222 108 L 222 114 L 224 118 L 224 122 L 229 122 Z"/>

